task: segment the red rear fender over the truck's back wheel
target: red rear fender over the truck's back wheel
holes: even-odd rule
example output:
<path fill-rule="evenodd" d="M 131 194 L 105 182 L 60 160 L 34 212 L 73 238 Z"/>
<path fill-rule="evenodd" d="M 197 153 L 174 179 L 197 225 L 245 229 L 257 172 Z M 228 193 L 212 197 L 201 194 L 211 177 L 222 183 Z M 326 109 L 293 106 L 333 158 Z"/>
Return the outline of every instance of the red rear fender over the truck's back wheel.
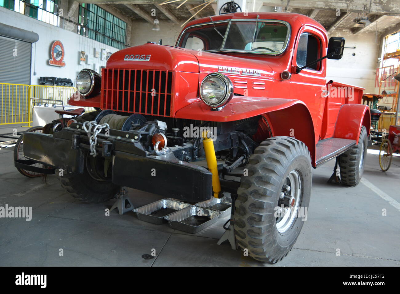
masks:
<path fill-rule="evenodd" d="M 371 114 L 368 106 L 363 104 L 343 104 L 339 109 L 335 124 L 334 138 L 356 140 L 360 137 L 361 127 L 370 132 Z"/>

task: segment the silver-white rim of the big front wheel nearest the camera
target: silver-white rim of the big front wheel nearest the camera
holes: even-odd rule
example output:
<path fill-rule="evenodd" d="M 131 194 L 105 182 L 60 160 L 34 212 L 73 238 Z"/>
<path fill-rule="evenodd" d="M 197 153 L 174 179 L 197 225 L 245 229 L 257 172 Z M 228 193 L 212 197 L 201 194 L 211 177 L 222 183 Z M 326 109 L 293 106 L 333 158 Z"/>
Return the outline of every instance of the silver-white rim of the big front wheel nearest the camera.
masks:
<path fill-rule="evenodd" d="M 292 170 L 286 177 L 285 184 L 290 186 L 290 191 L 286 193 L 288 196 L 294 197 L 294 205 L 284 207 L 283 217 L 276 219 L 276 229 L 280 234 L 289 230 L 297 216 L 302 196 L 302 181 L 300 174 L 296 170 Z"/>

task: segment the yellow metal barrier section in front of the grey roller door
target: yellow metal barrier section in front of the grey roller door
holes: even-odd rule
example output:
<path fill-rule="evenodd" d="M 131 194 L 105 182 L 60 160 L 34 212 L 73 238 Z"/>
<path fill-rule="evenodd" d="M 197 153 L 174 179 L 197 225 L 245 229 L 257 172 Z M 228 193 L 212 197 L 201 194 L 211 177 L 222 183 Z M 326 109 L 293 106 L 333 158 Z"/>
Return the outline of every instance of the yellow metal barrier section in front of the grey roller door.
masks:
<path fill-rule="evenodd" d="M 0 83 L 0 125 L 30 123 L 30 86 Z"/>

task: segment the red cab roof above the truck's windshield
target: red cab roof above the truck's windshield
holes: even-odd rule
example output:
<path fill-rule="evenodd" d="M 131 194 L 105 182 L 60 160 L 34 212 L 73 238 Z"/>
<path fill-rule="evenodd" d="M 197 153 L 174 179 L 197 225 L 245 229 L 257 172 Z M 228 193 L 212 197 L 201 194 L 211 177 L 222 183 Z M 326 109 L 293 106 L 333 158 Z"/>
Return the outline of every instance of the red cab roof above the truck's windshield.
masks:
<path fill-rule="evenodd" d="M 259 16 L 259 19 L 272 19 L 272 20 L 284 20 L 286 22 L 292 23 L 292 22 L 300 22 L 302 25 L 305 24 L 310 24 L 313 25 L 323 32 L 326 32 L 324 26 L 322 26 L 319 22 L 313 20 L 312 18 L 305 16 L 304 14 L 298 14 L 298 13 L 289 13 L 289 12 L 248 12 L 247 15 L 244 15 L 244 12 L 234 12 L 234 13 L 227 13 L 227 14 L 220 14 L 216 16 L 207 16 L 203 18 L 198 18 L 196 20 L 192 20 L 191 22 L 188 22 L 184 29 L 186 29 L 189 26 L 193 26 L 194 24 L 201 24 L 205 22 L 210 22 L 210 18 L 212 21 L 218 21 L 218 20 L 230 20 L 230 19 L 257 19 L 257 16 Z"/>

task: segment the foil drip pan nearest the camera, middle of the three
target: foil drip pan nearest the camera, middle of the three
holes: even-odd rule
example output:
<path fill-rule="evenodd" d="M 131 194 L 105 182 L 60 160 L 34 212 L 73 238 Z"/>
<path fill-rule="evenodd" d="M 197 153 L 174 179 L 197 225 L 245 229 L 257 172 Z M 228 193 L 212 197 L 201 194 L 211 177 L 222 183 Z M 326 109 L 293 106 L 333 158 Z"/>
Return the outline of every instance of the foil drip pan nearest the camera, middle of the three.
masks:
<path fill-rule="evenodd" d="M 192 205 L 166 216 L 165 219 L 171 228 L 194 234 L 216 222 L 221 213 L 218 210 Z"/>

